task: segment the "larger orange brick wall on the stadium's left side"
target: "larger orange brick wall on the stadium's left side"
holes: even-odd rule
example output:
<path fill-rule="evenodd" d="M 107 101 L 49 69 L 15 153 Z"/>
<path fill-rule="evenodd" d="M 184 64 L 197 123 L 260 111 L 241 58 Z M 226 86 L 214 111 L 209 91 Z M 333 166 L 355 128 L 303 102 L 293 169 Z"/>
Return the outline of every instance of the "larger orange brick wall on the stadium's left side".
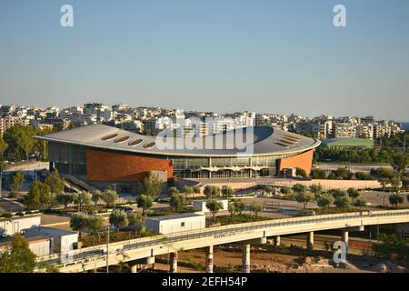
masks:
<path fill-rule="evenodd" d="M 87 179 L 93 182 L 142 182 L 150 171 L 174 175 L 171 160 L 86 149 Z"/>

